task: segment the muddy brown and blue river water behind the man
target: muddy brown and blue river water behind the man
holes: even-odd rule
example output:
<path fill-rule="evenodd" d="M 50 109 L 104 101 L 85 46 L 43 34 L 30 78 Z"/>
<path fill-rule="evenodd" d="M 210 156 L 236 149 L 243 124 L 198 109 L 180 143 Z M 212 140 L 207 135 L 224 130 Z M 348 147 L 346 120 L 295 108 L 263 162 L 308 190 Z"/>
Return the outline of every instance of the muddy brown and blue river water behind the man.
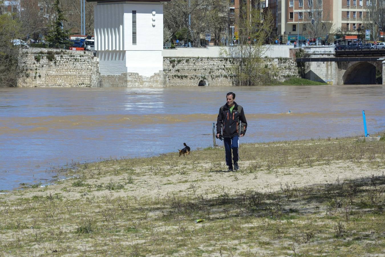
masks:
<path fill-rule="evenodd" d="M 229 91 L 248 120 L 241 143 L 363 134 L 362 110 L 369 133 L 385 128 L 382 85 L 0 89 L 0 190 L 67 163 L 211 146 Z"/>

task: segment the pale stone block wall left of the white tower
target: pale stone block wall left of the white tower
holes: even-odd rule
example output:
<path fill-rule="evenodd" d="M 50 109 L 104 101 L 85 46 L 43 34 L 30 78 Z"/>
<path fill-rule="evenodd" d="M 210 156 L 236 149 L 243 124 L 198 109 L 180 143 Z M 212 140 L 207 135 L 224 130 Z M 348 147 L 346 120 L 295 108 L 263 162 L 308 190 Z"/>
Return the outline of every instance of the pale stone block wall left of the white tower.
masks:
<path fill-rule="evenodd" d="M 98 87 L 99 62 L 90 51 L 22 49 L 18 87 Z"/>

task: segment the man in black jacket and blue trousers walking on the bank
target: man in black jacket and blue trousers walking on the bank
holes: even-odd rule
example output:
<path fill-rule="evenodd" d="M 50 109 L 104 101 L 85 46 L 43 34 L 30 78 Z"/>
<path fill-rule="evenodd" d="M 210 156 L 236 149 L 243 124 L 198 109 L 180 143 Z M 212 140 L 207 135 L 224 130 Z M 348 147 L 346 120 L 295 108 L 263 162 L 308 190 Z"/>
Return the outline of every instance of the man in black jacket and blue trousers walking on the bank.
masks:
<path fill-rule="evenodd" d="M 244 116 L 242 106 L 234 102 L 235 94 L 229 92 L 226 95 L 227 103 L 219 108 L 217 119 L 217 134 L 223 135 L 224 149 L 226 151 L 226 165 L 229 167 L 228 172 L 239 170 L 239 137 L 244 136 L 246 132 L 247 122 Z M 242 123 L 242 125 L 241 125 Z M 231 161 L 231 150 L 233 151 L 233 162 Z"/>

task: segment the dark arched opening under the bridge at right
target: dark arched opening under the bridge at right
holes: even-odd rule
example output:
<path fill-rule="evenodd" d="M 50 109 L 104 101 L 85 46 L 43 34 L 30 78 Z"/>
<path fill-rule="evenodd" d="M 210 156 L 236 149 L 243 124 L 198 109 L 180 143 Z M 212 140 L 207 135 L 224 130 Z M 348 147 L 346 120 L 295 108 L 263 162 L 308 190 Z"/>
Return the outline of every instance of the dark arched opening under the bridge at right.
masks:
<path fill-rule="evenodd" d="M 343 84 L 376 84 L 376 66 L 369 62 L 358 62 L 343 74 Z"/>

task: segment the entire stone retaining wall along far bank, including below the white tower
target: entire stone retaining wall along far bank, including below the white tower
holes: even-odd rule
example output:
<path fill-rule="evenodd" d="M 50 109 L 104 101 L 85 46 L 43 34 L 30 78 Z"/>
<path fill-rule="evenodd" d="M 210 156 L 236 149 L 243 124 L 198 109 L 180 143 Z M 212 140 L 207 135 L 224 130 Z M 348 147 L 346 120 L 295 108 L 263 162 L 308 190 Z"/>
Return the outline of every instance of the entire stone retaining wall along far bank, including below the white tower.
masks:
<path fill-rule="evenodd" d="M 24 72 L 19 87 L 166 87 L 234 85 L 231 66 L 238 59 L 223 57 L 164 57 L 163 71 L 151 77 L 125 72 L 120 75 L 99 73 L 97 57 L 89 51 L 28 48 L 22 50 Z M 268 76 L 284 81 L 298 77 L 293 58 L 263 58 Z"/>

